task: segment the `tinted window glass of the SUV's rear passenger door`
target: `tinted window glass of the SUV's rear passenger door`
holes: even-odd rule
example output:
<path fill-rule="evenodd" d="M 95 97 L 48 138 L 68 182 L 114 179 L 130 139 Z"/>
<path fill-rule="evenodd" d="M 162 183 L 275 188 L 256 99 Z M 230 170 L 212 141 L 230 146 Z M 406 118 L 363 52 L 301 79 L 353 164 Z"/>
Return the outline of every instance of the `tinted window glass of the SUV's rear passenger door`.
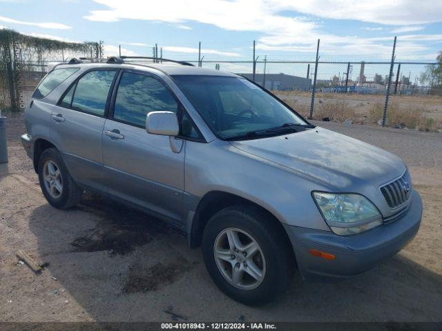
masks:
<path fill-rule="evenodd" d="M 114 76 L 115 70 L 97 70 L 81 77 L 75 88 L 72 108 L 104 115 L 106 99 Z"/>

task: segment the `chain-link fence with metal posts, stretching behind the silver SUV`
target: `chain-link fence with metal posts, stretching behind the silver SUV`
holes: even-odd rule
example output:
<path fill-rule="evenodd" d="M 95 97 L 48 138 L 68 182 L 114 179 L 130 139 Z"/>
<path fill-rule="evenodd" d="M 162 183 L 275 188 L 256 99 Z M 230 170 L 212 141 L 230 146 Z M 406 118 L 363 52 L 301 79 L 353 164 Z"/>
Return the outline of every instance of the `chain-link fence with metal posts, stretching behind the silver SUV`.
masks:
<path fill-rule="evenodd" d="M 50 61 L 103 56 L 102 42 L 54 41 L 55 44 L 48 47 L 46 39 L 39 39 L 37 43 L 33 37 L 26 36 L 17 43 L 14 36 L 9 37 L 8 42 L 0 39 L 0 108 L 23 108 L 46 74 Z M 309 119 L 442 130 L 442 79 L 429 74 L 430 68 L 442 68 L 442 61 L 410 61 L 398 57 L 394 47 L 390 61 L 378 61 L 373 56 L 346 59 L 321 55 L 319 42 L 317 52 L 287 59 L 287 54 L 275 52 L 268 57 L 261 49 L 257 54 L 255 46 L 250 43 L 249 59 L 216 59 L 216 54 L 204 54 L 207 50 L 200 46 L 198 55 L 189 54 L 180 60 L 242 74 L 271 90 Z M 162 57 L 162 54 L 161 47 L 153 48 L 153 57 Z M 124 54 L 120 50 L 119 54 L 108 55 Z"/>

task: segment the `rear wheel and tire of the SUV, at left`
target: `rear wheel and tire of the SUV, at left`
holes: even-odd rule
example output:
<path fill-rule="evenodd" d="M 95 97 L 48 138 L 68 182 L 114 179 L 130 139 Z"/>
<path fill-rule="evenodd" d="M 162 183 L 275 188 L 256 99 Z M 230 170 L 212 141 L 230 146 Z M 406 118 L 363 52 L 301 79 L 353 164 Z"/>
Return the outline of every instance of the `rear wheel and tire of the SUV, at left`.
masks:
<path fill-rule="evenodd" d="M 76 205 L 83 189 L 75 183 L 55 148 L 44 150 L 39 159 L 38 174 L 41 191 L 50 205 L 68 209 Z"/>

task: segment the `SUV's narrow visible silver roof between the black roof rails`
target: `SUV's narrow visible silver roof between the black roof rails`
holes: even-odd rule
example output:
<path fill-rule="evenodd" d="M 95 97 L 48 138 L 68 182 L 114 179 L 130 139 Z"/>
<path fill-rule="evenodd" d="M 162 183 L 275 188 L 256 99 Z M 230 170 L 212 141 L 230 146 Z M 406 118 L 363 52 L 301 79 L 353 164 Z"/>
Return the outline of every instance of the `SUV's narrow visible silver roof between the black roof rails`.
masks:
<path fill-rule="evenodd" d="M 194 66 L 184 66 L 179 63 L 165 62 L 165 63 L 151 63 L 146 61 L 125 61 L 124 63 L 105 63 L 105 62 L 89 62 L 89 63 L 71 63 L 62 64 L 63 68 L 68 66 L 78 66 L 80 68 L 131 68 L 137 70 L 146 70 L 147 68 L 157 69 L 169 75 L 207 75 L 207 76 L 224 76 L 224 77 L 238 77 L 238 75 L 231 72 L 220 70 L 213 70 L 207 68 L 198 68 Z M 146 70 L 148 71 L 148 70 Z"/>

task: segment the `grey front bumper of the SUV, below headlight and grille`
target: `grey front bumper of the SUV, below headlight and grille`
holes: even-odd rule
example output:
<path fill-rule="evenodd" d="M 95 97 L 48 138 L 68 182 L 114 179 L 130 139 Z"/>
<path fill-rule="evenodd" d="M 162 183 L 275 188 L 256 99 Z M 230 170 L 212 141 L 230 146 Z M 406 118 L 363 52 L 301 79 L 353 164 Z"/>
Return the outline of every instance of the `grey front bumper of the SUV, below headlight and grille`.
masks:
<path fill-rule="evenodd" d="M 343 237 L 329 231 L 287 224 L 284 227 L 302 276 L 311 280 L 333 281 L 360 274 L 399 252 L 416 235 L 421 217 L 422 200 L 413 190 L 410 208 L 403 217 L 361 234 Z M 313 256 L 309 254 L 311 248 L 334 254 L 335 259 Z"/>

